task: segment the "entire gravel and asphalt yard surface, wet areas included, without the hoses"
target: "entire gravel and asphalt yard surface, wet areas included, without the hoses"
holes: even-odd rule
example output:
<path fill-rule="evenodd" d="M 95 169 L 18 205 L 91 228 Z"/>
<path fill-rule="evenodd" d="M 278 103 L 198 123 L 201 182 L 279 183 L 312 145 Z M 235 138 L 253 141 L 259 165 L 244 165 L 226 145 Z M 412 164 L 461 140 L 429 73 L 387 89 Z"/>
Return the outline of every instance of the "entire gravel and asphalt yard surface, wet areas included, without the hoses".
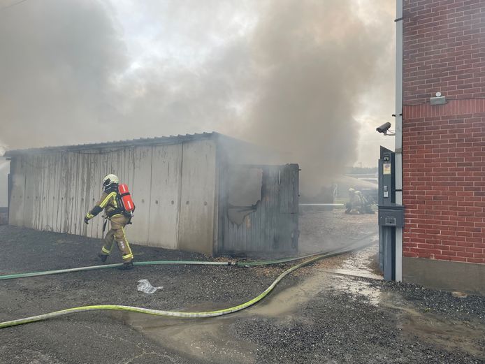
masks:
<path fill-rule="evenodd" d="M 375 218 L 306 213 L 302 246 L 319 251 L 358 240 L 372 233 Z M 349 219 L 360 230 L 349 231 Z M 75 235 L 0 226 L 0 247 L 1 275 L 99 264 L 99 240 Z M 138 261 L 209 259 L 136 245 L 133 252 Z M 108 263 L 120 260 L 116 254 Z M 297 270 L 262 303 L 216 319 L 86 312 L 1 329 L 0 363 L 485 363 L 484 298 L 328 272 L 352 260 L 339 256 Z M 155 265 L 0 281 L 0 321 L 93 304 L 230 307 L 261 293 L 289 266 Z M 140 293 L 138 279 L 164 288 Z"/>

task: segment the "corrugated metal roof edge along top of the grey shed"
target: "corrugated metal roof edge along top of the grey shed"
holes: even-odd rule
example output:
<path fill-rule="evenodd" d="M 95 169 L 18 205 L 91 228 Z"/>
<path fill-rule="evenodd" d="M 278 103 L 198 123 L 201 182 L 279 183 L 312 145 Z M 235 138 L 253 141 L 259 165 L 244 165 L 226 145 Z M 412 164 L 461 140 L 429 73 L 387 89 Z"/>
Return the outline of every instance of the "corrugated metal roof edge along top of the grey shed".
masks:
<path fill-rule="evenodd" d="M 17 156 L 21 154 L 35 154 L 35 153 L 48 153 L 48 152 L 75 152 L 79 150 L 103 150 L 113 147 L 133 147 L 136 145 L 161 145 L 161 144 L 178 144 L 191 140 L 200 140 L 205 138 L 228 138 L 222 134 L 212 131 L 211 133 L 194 133 L 178 136 L 161 136 L 157 138 L 139 138 L 131 140 L 117 140 L 106 143 L 91 143 L 91 144 L 78 144 L 78 145 L 63 145 L 59 147 L 41 147 L 30 148 L 20 150 L 8 150 L 4 156 Z"/>

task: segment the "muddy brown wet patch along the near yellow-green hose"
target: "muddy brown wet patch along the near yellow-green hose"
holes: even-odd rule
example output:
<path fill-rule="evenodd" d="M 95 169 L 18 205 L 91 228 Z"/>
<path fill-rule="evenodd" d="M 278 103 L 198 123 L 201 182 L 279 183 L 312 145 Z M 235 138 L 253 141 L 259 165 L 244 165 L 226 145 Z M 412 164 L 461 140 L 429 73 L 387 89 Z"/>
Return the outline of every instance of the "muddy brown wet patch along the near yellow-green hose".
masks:
<path fill-rule="evenodd" d="M 277 286 L 268 298 L 247 310 L 215 319 L 172 319 L 134 312 L 116 312 L 113 315 L 164 347 L 186 356 L 214 363 L 225 364 L 227 358 L 236 363 L 255 363 L 256 344 L 233 336 L 231 326 L 234 321 L 255 315 L 288 319 L 294 316 L 298 307 L 325 289 L 327 278 L 328 274 L 317 271 L 305 277 L 300 284 L 285 289 Z M 202 312 L 226 307 L 204 303 L 187 307 L 184 311 Z"/>

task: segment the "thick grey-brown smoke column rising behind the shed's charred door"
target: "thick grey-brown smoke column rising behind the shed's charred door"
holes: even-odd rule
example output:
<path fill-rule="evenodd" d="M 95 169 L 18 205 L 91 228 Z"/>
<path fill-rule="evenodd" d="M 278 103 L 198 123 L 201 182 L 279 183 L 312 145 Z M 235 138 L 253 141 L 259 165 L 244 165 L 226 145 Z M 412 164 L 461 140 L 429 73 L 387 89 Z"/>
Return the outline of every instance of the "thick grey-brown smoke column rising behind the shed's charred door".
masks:
<path fill-rule="evenodd" d="M 392 34 L 380 22 L 356 17 L 354 0 L 274 5 L 252 34 L 259 82 L 247 138 L 290 150 L 303 168 L 303 189 L 315 193 L 356 158 L 354 116 L 363 94 L 376 86 L 377 64 Z"/>

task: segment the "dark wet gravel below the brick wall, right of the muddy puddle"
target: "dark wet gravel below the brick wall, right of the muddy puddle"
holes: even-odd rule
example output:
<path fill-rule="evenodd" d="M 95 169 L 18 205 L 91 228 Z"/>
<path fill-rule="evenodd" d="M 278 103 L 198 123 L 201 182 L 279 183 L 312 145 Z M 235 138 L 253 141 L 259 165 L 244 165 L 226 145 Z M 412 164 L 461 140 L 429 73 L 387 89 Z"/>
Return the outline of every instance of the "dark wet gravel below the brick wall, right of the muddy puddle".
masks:
<path fill-rule="evenodd" d="M 483 297 L 326 279 L 333 284 L 290 319 L 240 319 L 236 335 L 257 342 L 257 358 L 267 363 L 485 363 Z"/>

